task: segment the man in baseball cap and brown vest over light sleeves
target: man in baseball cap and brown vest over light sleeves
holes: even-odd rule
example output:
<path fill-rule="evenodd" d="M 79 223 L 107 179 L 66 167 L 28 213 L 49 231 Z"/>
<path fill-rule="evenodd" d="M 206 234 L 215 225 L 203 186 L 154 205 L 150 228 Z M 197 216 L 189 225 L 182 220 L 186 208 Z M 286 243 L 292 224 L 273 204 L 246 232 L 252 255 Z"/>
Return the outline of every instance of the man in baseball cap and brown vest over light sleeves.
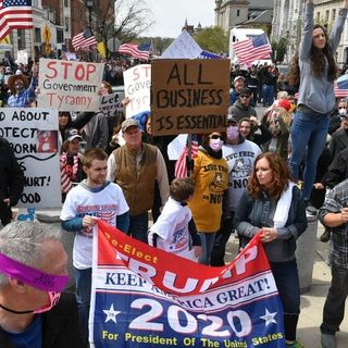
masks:
<path fill-rule="evenodd" d="M 142 142 L 136 120 L 125 120 L 121 129 L 125 144 L 110 154 L 107 178 L 121 186 L 129 206 L 128 235 L 147 243 L 148 211 L 153 206 L 156 181 L 162 206 L 169 198 L 166 166 L 161 151 Z"/>

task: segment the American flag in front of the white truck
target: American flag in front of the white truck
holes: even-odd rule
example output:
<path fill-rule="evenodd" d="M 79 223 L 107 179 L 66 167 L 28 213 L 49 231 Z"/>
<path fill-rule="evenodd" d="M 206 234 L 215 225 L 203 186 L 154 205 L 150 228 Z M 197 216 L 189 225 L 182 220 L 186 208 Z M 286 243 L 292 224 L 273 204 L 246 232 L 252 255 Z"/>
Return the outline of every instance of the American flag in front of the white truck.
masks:
<path fill-rule="evenodd" d="M 233 44 L 233 49 L 240 64 L 248 64 L 260 59 L 271 58 L 271 46 L 265 34 L 258 35 L 251 39 Z"/>

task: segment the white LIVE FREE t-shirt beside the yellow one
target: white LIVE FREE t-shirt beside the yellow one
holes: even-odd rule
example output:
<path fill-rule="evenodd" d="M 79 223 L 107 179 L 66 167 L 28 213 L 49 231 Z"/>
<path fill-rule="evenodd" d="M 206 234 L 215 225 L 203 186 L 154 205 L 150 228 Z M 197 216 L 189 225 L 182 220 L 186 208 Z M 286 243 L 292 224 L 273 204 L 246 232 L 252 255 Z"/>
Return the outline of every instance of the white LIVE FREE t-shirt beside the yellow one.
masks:
<path fill-rule="evenodd" d="M 222 156 L 228 164 L 229 211 L 236 211 L 241 195 L 246 190 L 253 162 L 260 153 L 260 148 L 250 140 L 236 145 L 226 144 L 222 147 Z"/>

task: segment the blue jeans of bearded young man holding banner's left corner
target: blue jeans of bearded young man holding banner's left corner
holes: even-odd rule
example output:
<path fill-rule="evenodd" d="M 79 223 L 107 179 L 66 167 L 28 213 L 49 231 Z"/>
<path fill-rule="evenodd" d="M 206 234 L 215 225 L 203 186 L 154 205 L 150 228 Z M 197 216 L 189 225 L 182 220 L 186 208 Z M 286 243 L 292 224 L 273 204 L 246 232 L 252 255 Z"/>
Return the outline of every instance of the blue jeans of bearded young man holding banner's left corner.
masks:
<path fill-rule="evenodd" d="M 76 300 L 78 306 L 78 326 L 84 347 L 88 344 L 88 319 L 90 306 L 91 269 L 75 269 Z"/>

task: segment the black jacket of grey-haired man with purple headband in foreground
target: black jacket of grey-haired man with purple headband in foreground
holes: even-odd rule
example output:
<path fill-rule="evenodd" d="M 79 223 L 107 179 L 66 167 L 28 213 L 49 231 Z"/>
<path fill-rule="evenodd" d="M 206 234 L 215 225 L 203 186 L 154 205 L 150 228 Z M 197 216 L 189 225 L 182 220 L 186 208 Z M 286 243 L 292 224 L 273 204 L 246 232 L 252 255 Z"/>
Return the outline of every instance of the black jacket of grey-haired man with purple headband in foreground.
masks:
<path fill-rule="evenodd" d="M 42 315 L 42 348 L 80 348 L 75 296 L 62 294 L 60 301 Z M 0 347 L 16 348 L 0 328 Z"/>

